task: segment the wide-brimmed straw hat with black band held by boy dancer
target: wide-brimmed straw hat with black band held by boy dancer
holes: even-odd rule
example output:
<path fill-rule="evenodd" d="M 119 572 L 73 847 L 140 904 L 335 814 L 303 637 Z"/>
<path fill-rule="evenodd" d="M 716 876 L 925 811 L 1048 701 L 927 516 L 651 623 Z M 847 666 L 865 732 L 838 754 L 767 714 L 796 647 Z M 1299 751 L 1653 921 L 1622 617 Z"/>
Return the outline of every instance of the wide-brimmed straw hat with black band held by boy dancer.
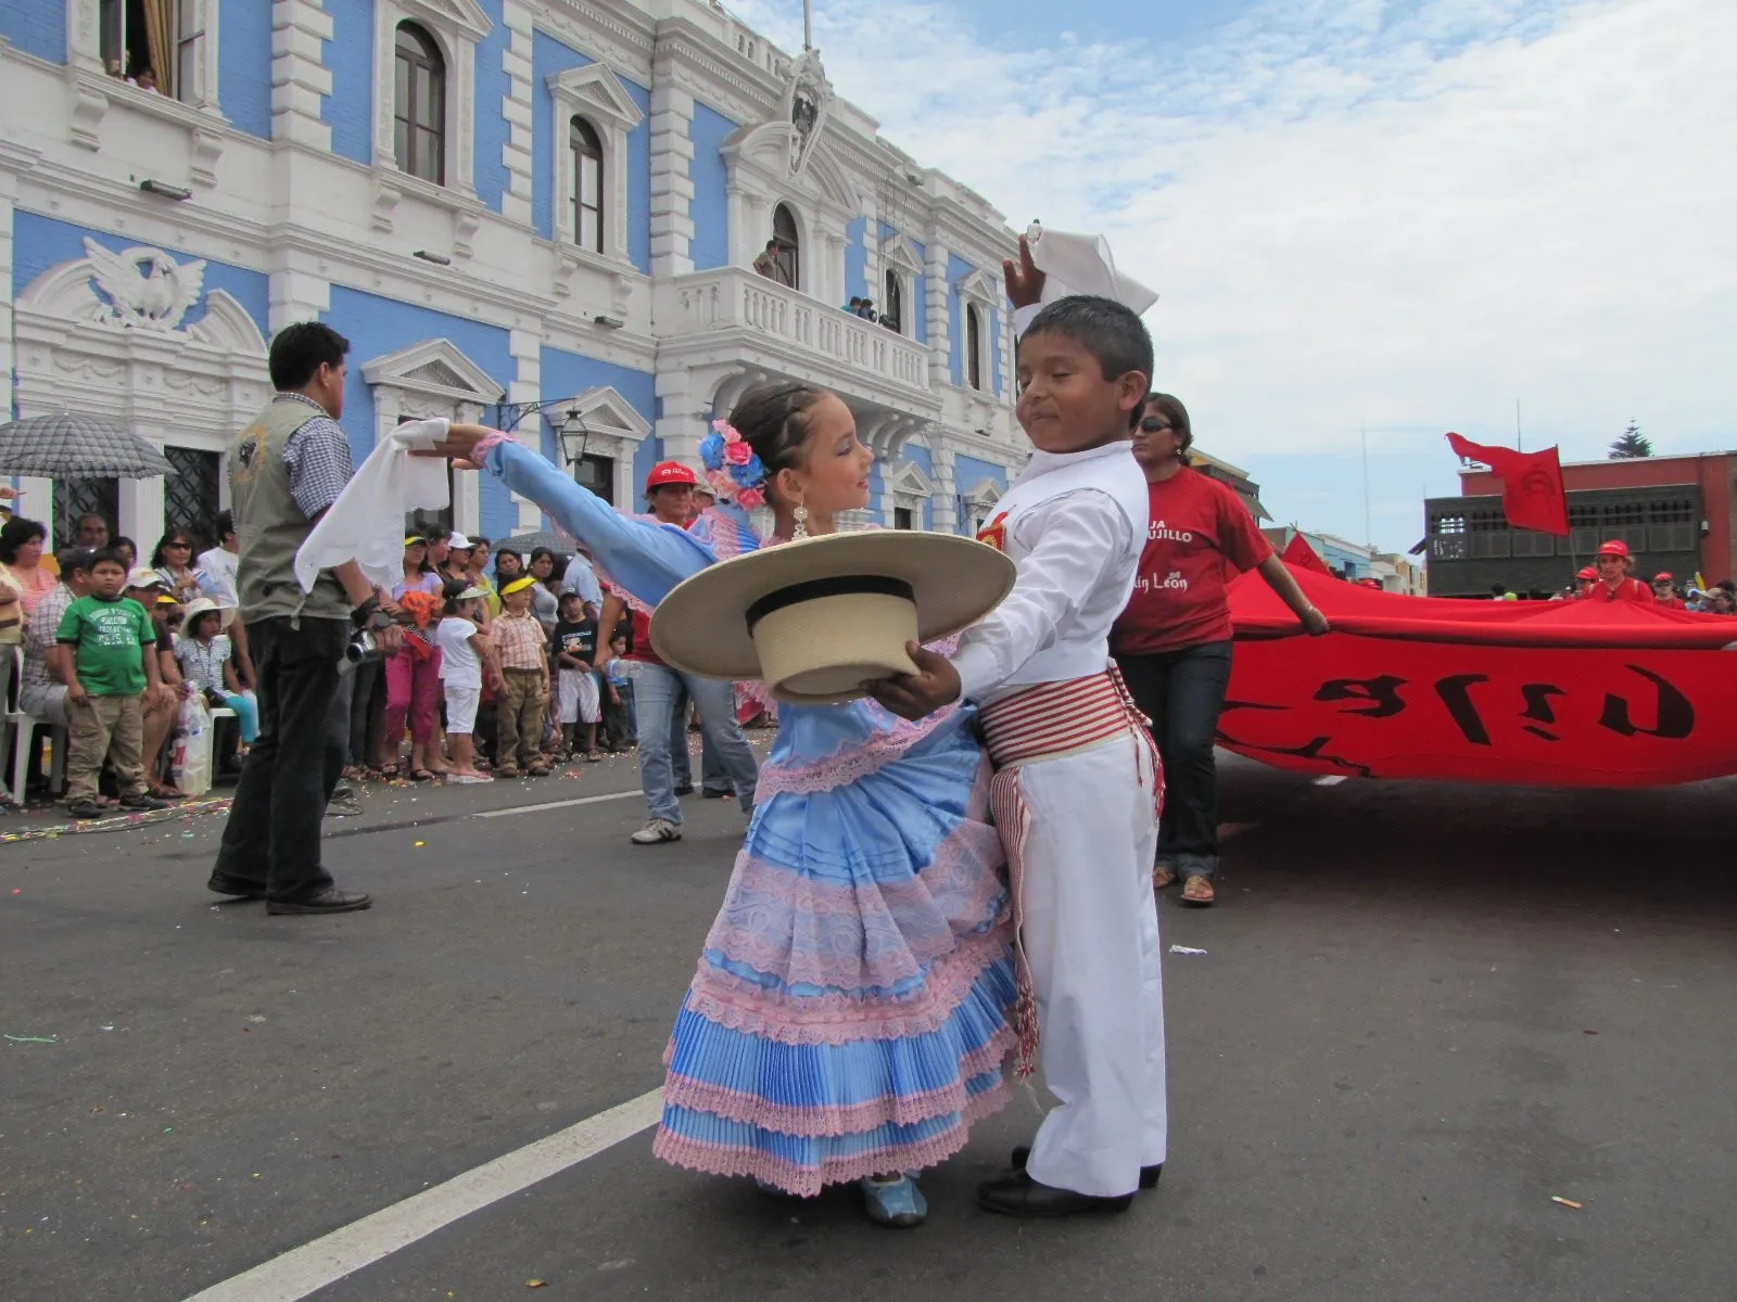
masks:
<path fill-rule="evenodd" d="M 702 569 L 658 602 L 651 646 L 688 674 L 764 679 L 797 705 L 915 674 L 905 642 L 955 634 L 1013 590 L 1013 561 L 950 533 L 832 533 Z"/>

